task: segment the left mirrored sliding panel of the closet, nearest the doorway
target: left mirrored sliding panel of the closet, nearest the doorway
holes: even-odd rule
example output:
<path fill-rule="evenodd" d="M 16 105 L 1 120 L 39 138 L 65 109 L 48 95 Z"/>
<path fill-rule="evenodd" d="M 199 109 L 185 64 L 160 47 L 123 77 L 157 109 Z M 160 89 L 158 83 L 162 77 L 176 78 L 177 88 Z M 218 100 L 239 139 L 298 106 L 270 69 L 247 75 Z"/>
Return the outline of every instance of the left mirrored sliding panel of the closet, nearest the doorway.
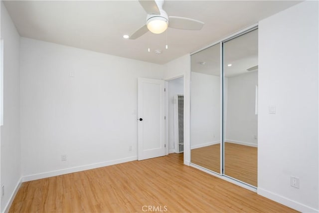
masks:
<path fill-rule="evenodd" d="M 191 163 L 220 172 L 220 44 L 191 55 Z"/>

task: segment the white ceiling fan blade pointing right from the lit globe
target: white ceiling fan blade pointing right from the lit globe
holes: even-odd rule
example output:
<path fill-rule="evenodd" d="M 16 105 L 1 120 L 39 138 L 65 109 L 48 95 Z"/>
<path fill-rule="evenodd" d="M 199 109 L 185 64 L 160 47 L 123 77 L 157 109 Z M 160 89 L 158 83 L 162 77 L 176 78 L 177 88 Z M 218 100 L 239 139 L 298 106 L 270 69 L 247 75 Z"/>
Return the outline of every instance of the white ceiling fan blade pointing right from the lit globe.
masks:
<path fill-rule="evenodd" d="M 168 16 L 168 27 L 176 29 L 200 30 L 204 22 L 192 18 Z"/>

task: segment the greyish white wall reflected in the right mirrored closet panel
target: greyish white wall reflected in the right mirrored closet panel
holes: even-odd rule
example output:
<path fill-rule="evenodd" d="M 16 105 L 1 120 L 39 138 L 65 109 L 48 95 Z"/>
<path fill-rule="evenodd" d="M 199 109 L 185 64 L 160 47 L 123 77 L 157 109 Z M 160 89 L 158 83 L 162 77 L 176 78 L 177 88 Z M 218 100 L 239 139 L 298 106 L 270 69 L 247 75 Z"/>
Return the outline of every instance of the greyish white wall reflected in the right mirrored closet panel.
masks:
<path fill-rule="evenodd" d="M 257 146 L 255 114 L 258 72 L 228 77 L 227 122 L 225 140 L 247 146 Z"/>

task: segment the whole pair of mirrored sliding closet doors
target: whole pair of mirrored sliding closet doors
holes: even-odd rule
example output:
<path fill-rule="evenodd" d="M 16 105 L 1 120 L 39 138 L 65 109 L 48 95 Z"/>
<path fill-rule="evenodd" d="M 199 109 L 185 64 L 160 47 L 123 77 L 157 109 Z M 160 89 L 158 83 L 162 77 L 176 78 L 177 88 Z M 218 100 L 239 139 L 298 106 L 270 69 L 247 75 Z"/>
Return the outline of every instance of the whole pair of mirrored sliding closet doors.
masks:
<path fill-rule="evenodd" d="M 190 89 L 191 164 L 257 187 L 257 27 L 192 54 Z"/>

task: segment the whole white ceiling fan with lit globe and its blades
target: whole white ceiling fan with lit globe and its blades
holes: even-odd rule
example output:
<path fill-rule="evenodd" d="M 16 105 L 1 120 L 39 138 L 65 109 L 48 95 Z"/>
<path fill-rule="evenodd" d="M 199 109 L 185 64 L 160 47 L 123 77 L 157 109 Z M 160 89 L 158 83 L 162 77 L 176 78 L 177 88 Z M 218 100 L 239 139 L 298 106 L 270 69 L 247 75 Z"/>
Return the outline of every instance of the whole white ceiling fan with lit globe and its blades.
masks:
<path fill-rule="evenodd" d="M 156 34 L 164 32 L 167 27 L 176 29 L 200 30 L 204 22 L 192 18 L 168 16 L 162 9 L 164 0 L 139 0 L 144 10 L 148 13 L 146 24 L 136 30 L 130 39 L 136 39 L 151 31 Z"/>

